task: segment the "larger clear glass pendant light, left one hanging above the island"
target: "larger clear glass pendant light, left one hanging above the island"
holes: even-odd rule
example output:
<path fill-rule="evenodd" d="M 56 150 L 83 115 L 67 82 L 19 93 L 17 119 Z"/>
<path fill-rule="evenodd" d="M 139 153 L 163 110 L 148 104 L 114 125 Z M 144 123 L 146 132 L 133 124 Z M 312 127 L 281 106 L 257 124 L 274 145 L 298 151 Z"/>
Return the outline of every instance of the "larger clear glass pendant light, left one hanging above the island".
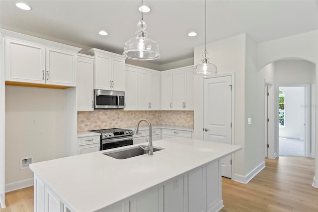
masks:
<path fill-rule="evenodd" d="M 143 0 L 141 1 L 143 8 Z M 137 24 L 138 31 L 136 37 L 129 39 L 125 43 L 123 55 L 132 60 L 155 60 L 160 57 L 159 46 L 156 41 L 148 38 L 147 27 L 143 18 L 143 9 L 141 9 L 141 20 Z"/>

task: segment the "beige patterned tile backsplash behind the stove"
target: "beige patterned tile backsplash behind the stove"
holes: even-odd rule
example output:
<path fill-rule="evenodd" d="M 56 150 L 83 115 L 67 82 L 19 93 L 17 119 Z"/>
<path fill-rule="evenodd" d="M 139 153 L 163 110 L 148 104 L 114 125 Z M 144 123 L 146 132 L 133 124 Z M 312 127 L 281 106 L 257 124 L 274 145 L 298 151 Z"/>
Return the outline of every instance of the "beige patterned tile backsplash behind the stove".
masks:
<path fill-rule="evenodd" d="M 147 118 L 152 125 L 164 124 L 193 127 L 193 111 L 188 110 L 149 110 L 130 111 L 120 109 L 98 109 L 78 111 L 78 132 L 136 126 L 140 118 Z M 142 122 L 142 125 L 147 125 Z"/>

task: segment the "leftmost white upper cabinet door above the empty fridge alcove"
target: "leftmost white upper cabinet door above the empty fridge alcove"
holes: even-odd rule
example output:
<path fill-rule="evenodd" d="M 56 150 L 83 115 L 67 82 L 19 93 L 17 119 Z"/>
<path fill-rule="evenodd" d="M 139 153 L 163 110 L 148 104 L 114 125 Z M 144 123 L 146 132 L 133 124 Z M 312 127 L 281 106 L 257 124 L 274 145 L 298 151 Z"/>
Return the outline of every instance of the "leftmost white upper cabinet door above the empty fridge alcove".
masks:
<path fill-rule="evenodd" d="M 5 80 L 45 83 L 45 47 L 5 39 Z"/>

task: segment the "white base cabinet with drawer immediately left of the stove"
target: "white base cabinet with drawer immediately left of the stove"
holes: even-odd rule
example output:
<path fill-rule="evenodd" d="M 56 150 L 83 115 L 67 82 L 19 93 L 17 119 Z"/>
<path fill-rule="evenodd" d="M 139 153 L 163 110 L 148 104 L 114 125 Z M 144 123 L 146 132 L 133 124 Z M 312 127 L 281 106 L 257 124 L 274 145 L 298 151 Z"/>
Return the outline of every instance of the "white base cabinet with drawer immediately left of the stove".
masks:
<path fill-rule="evenodd" d="M 84 133 L 78 133 L 78 155 L 99 151 L 100 135 L 82 136 Z"/>

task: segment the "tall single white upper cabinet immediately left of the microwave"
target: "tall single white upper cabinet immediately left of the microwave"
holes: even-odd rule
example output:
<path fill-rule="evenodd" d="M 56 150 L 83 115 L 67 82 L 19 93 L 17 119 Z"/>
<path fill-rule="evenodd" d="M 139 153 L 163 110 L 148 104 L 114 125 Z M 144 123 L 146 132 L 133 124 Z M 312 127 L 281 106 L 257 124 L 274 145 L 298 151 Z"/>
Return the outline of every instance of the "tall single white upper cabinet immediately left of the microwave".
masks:
<path fill-rule="evenodd" d="M 94 57 L 78 55 L 76 76 L 78 111 L 92 111 L 94 110 Z"/>

